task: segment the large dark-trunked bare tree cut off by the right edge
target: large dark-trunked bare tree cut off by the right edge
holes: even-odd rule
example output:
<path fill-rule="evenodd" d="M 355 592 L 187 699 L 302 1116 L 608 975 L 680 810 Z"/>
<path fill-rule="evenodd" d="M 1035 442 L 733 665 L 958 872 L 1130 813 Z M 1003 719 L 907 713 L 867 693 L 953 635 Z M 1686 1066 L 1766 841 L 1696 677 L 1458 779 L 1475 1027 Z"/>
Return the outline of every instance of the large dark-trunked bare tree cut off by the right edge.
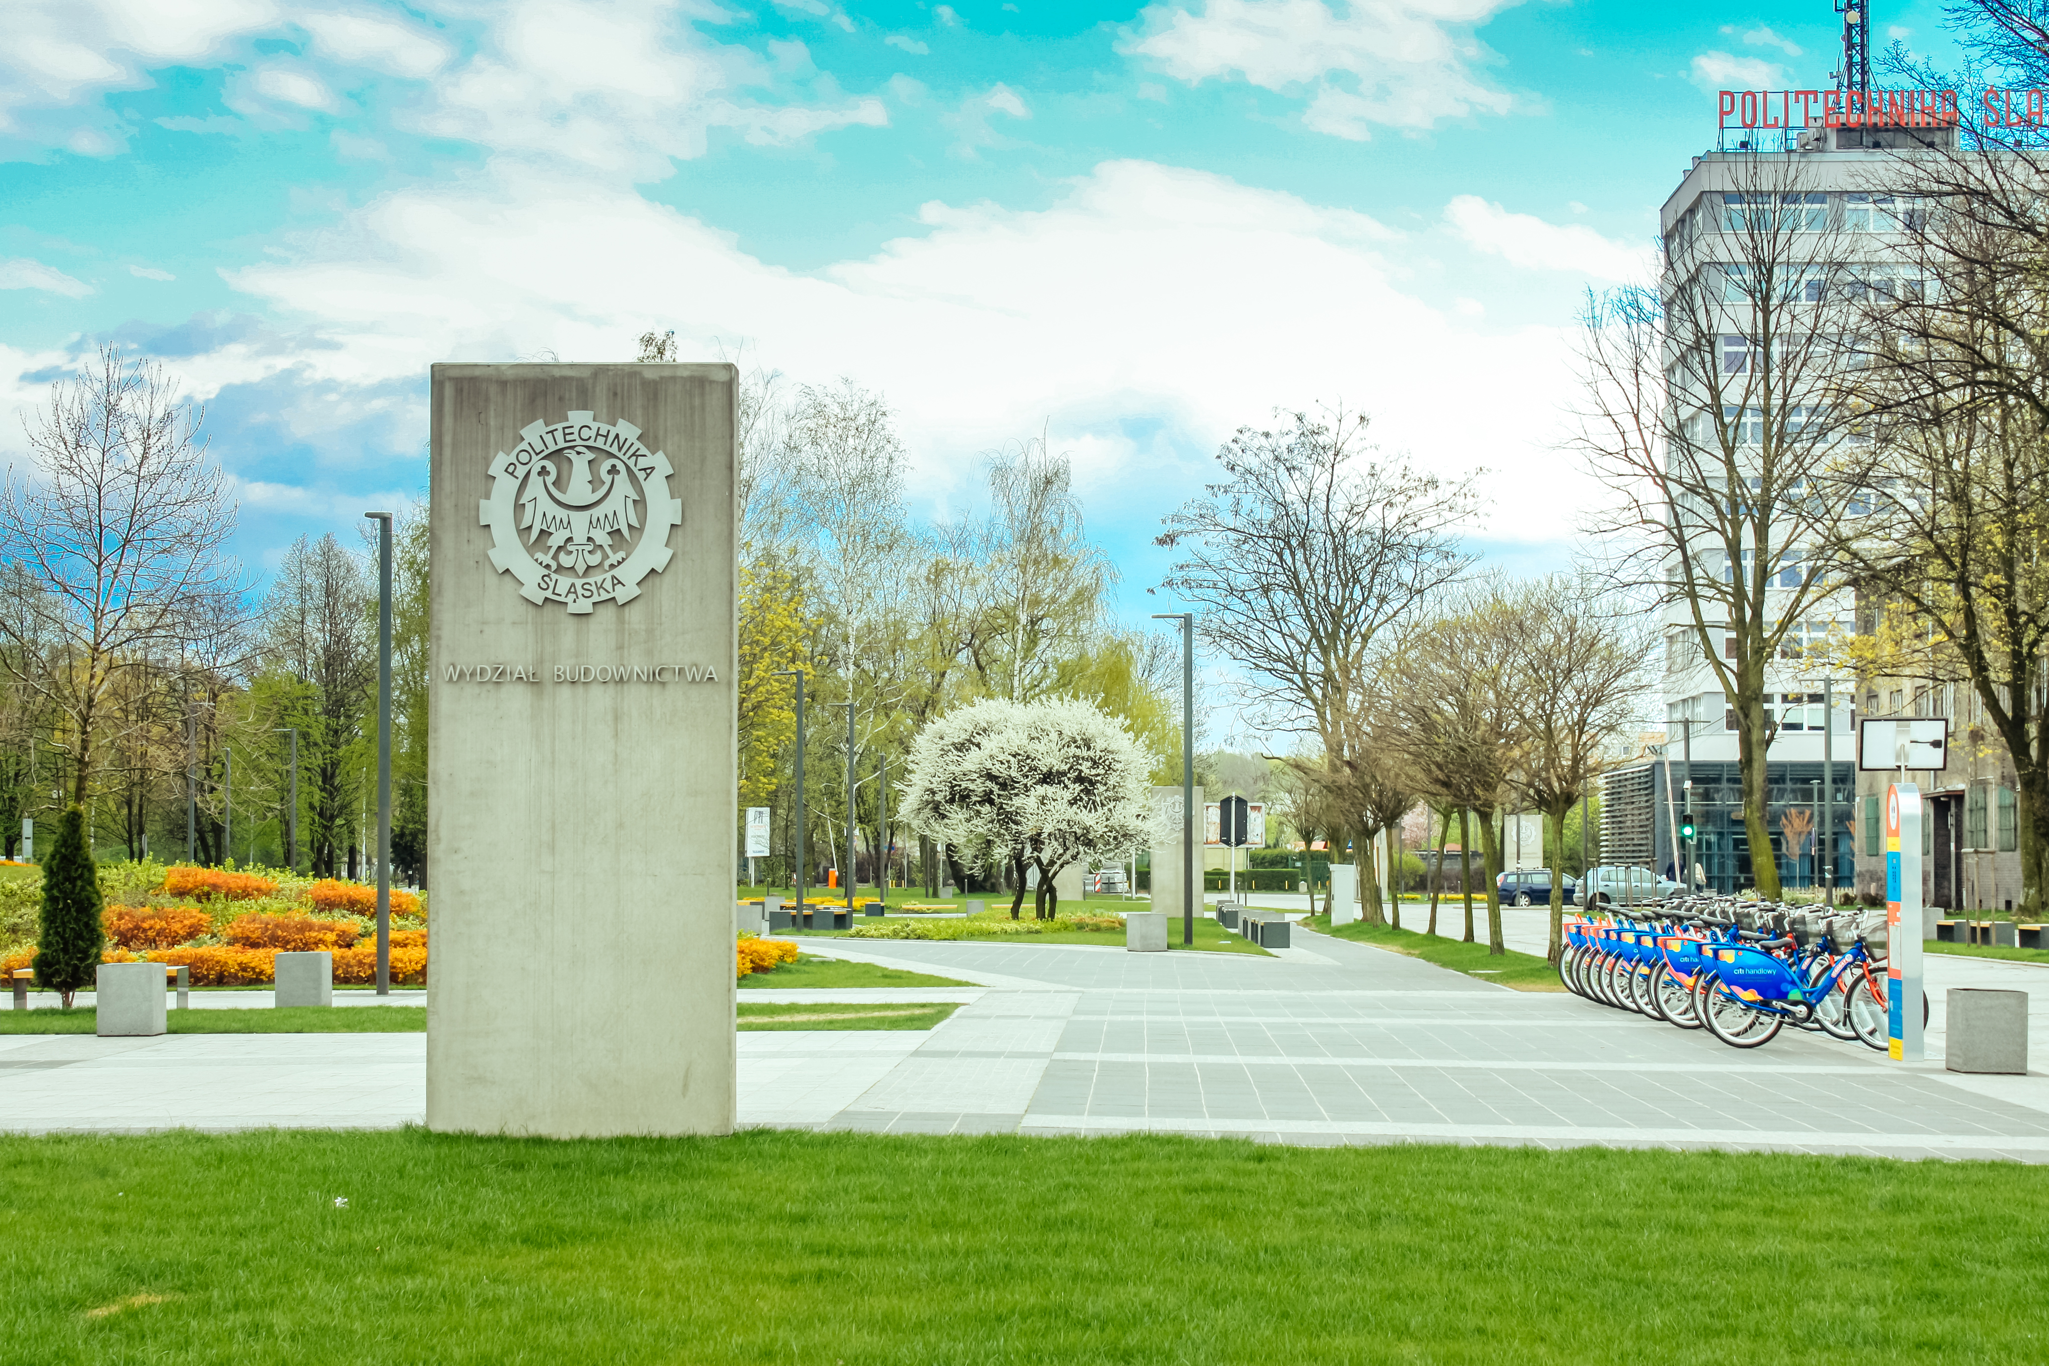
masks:
<path fill-rule="evenodd" d="M 1897 158 L 1912 205 L 1887 289 L 1863 297 L 1850 389 L 1860 463 L 1840 496 L 1865 596 L 1865 676 L 1967 686 L 2014 764 L 2022 907 L 2049 901 L 2049 156 Z M 1969 737 L 1969 733 L 1967 733 Z"/>

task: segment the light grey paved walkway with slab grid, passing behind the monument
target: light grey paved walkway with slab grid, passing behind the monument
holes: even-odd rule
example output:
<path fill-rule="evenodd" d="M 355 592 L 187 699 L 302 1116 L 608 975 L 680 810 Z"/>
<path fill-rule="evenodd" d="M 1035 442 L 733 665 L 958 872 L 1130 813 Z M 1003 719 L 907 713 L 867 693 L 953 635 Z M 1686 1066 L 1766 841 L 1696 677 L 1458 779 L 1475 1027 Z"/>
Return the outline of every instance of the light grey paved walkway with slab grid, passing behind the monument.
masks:
<path fill-rule="evenodd" d="M 740 1120 L 2049 1161 L 2041 1071 L 1961 1077 L 1791 1030 L 1742 1053 L 1574 995 L 1508 991 L 1361 944 L 1297 938 L 1301 958 L 811 940 L 811 952 L 975 987 L 887 993 L 967 1001 L 930 1032 L 740 1034 Z M 1930 981 L 1938 971 L 2037 973 L 2039 1014 L 2049 1006 L 2039 969 L 1957 963 L 1932 961 Z M 744 999 L 881 995 L 764 989 Z M 201 1004 L 213 1001 L 195 993 Z M 1934 1024 L 1938 1049 L 1940 999 Z M 0 1126 L 27 1130 L 387 1126 L 424 1112 L 424 1036 L 0 1036 Z"/>

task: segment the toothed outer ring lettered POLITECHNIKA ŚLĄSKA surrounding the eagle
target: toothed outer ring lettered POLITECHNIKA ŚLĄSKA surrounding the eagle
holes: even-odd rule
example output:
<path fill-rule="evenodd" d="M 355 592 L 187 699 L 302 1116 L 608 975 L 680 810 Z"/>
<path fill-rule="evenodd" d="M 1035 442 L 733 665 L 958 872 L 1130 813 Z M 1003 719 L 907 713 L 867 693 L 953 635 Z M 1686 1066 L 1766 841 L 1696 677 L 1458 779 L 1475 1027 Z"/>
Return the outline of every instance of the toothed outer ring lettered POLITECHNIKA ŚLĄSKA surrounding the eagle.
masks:
<path fill-rule="evenodd" d="M 582 616 L 598 602 L 625 606 L 639 596 L 639 582 L 650 569 L 660 573 L 668 567 L 674 555 L 668 535 L 682 526 L 682 500 L 668 496 L 668 477 L 674 473 L 668 455 L 647 451 L 639 436 L 641 430 L 631 422 L 598 422 L 594 412 L 572 412 L 566 422 L 529 422 L 510 453 L 492 457 L 492 496 L 477 504 L 477 518 L 492 528 L 492 565 L 518 580 L 522 598 L 535 606 L 561 602 L 572 616 Z M 570 578 L 541 565 L 518 535 L 520 483 L 535 461 L 570 446 L 623 457 L 645 494 L 641 535 L 633 551 L 617 567 L 588 578 Z"/>

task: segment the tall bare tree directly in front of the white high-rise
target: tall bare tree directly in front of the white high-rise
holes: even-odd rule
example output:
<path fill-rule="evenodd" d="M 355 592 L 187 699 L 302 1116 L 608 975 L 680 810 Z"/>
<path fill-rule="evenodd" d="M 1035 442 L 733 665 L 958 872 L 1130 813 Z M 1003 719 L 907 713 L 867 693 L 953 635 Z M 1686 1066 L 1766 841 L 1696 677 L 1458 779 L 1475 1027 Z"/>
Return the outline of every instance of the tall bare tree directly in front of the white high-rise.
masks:
<path fill-rule="evenodd" d="M 1664 244 L 1658 289 L 1588 297 L 1576 444 L 1615 500 L 1621 584 L 1676 608 L 1674 635 L 1736 717 L 1752 872 L 1779 895 L 1766 821 L 1772 661 L 1840 602 L 1840 373 L 1854 236 L 1799 158 L 1729 162 Z"/>

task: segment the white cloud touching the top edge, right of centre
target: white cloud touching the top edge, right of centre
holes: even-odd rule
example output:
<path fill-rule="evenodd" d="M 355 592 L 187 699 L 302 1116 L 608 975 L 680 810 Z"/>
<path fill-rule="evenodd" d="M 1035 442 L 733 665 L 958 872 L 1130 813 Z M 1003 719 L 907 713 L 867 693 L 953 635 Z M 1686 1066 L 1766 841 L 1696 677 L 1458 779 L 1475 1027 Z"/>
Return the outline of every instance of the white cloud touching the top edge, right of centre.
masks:
<path fill-rule="evenodd" d="M 1504 115 L 1514 98 L 1477 74 L 1492 53 L 1473 27 L 1518 0 L 1207 0 L 1203 12 L 1147 6 L 1127 51 L 1197 84 L 1240 76 L 1307 96 L 1303 123 L 1334 137 L 1426 129 L 1440 119 Z"/>

